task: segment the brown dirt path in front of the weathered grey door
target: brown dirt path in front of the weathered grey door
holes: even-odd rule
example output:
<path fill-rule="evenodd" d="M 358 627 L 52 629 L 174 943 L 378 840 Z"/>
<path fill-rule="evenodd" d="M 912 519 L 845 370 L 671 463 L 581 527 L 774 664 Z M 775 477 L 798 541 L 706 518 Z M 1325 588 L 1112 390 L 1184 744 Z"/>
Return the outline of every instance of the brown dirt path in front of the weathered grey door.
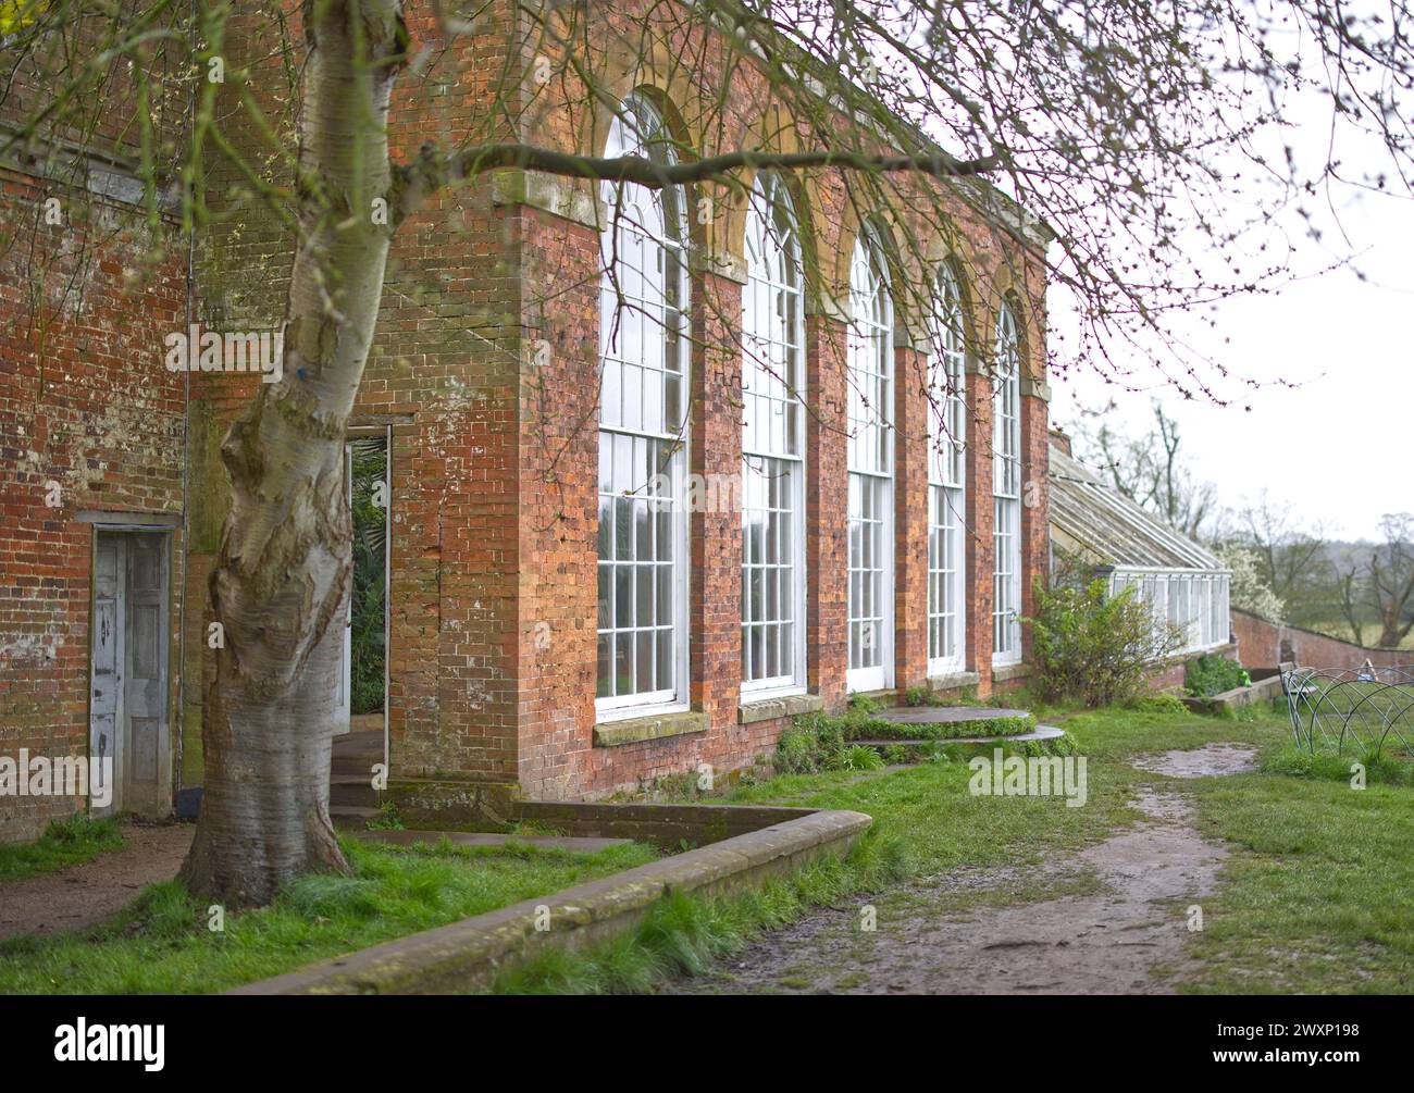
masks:
<path fill-rule="evenodd" d="M 177 875 L 197 826 L 129 822 L 122 830 L 122 850 L 0 884 L 0 940 L 81 929 L 122 911 L 146 885 Z"/>

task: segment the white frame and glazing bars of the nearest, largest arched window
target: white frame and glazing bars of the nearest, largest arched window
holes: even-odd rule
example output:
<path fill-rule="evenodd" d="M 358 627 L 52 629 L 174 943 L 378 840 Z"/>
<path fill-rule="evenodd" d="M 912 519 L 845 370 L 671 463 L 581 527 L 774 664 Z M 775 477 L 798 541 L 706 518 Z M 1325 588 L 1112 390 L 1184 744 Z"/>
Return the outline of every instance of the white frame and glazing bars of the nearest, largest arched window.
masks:
<path fill-rule="evenodd" d="M 662 116 L 639 96 L 632 96 L 626 99 L 622 105 L 622 110 L 617 115 L 609 126 L 608 141 L 605 147 L 605 156 L 643 156 L 646 158 L 653 158 L 659 163 L 672 164 L 676 161 L 676 156 L 672 150 L 672 143 L 666 137 L 666 126 L 663 124 Z M 689 556 L 689 537 L 687 537 L 687 468 L 689 468 L 689 451 L 687 451 L 687 431 L 686 421 L 687 413 L 686 406 L 690 397 L 690 296 L 689 296 L 689 277 L 687 277 L 687 221 L 686 221 L 686 194 L 682 188 L 674 188 L 673 192 L 662 189 L 650 189 L 648 187 L 639 185 L 636 182 L 609 182 L 605 181 L 601 185 L 601 198 L 604 205 L 604 226 L 600 238 L 601 246 L 601 260 L 604 263 L 604 273 L 601 276 L 600 287 L 600 464 L 601 464 L 601 491 L 598 496 L 601 499 L 614 496 L 618 493 L 605 493 L 602 491 L 602 482 L 605 481 L 605 445 L 612 444 L 615 450 L 621 447 L 619 440 L 628 437 L 629 443 L 643 441 L 645 444 L 670 444 L 674 447 L 673 454 L 669 457 L 667 462 L 658 468 L 656 474 L 648 474 L 648 461 L 645 460 L 645 469 L 642 474 L 643 481 L 633 481 L 632 492 L 635 501 L 642 501 L 645 496 L 666 496 L 667 505 L 670 506 L 669 519 L 669 534 L 672 536 L 672 559 L 669 566 L 672 567 L 672 625 L 669 632 L 673 639 L 670 670 L 673 674 L 670 687 L 659 687 L 653 691 L 638 691 L 633 694 L 619 694 L 619 696 L 598 696 L 598 656 L 595 656 L 595 717 L 600 721 L 612 721 L 628 717 L 646 717 L 655 714 L 679 713 L 689 708 L 690 701 L 690 662 L 689 662 L 689 632 L 687 632 L 687 604 L 689 604 L 689 568 L 691 559 Z M 676 201 L 672 201 L 676 198 Z M 676 209 L 672 206 L 676 205 Z M 677 331 L 667 328 L 665 321 L 658 320 L 643 307 L 635 307 L 628 291 L 624 291 L 624 298 L 619 298 L 619 291 L 625 283 L 642 284 L 641 298 L 648 303 L 650 301 L 650 291 L 656 291 L 659 301 L 665 301 L 667 297 L 667 283 L 666 283 L 666 269 L 669 263 L 666 257 L 669 250 L 676 253 L 676 294 L 679 300 L 679 307 L 676 308 L 674 322 Z M 632 255 L 639 253 L 643 256 L 641 266 L 642 269 L 632 269 Z M 652 260 L 648 256 L 652 255 Z M 632 279 L 626 274 L 631 274 Z M 658 276 L 656 286 L 648 284 L 648 277 Z M 665 315 L 669 310 L 665 308 Z M 615 317 L 618 321 L 615 321 Z M 633 327 L 633 320 L 638 318 L 638 353 L 633 359 L 626 356 L 618 356 L 617 352 L 629 352 L 626 346 L 631 345 L 631 331 Z M 659 362 L 655 363 L 649 349 L 649 338 L 660 338 L 660 341 L 653 346 L 655 352 L 660 351 Z M 611 344 L 612 342 L 612 344 Z M 625 348 L 619 348 L 625 346 Z M 676 375 L 670 375 L 669 361 L 672 352 L 676 352 L 677 370 Z M 612 355 L 612 359 L 611 359 Z M 631 372 L 632 369 L 632 372 Z M 632 400 L 626 400 L 625 396 L 625 378 L 629 375 L 636 375 L 639 380 L 638 387 L 638 403 L 633 414 L 628 414 L 624 410 L 615 410 L 617 407 L 632 407 Z M 656 390 L 658 399 L 663 399 L 663 392 L 667 389 L 670 382 L 676 379 L 677 383 L 677 427 L 655 430 L 650 428 L 643 421 L 643 414 L 646 413 L 646 406 L 652 402 L 646 397 L 645 392 L 653 393 Z M 612 380 L 612 383 L 609 382 Z M 659 386 L 662 385 L 662 386 Z M 619 402 L 614 402 L 619 400 Z M 614 403 L 611 406 L 611 403 Z M 659 416 L 662 417 L 662 406 L 659 402 Z M 636 416 L 636 424 L 633 417 Z M 670 426 L 670 421 L 660 421 L 663 426 Z M 650 508 L 652 513 L 652 508 Z M 650 536 L 656 540 L 659 533 L 656 520 L 649 518 L 649 525 L 652 530 Z M 635 532 L 636 534 L 636 532 Z M 602 533 L 600 536 L 601 550 L 602 550 Z M 636 549 L 635 549 L 636 556 Z M 655 554 L 655 559 L 659 557 Z M 608 560 L 609 570 L 612 567 L 612 556 Z M 662 563 L 655 563 L 662 566 Z M 597 568 L 602 570 L 605 566 L 605 559 L 602 553 Z M 612 578 L 611 578 L 612 580 Z M 638 580 L 632 581 L 633 588 L 638 587 Z M 658 598 L 658 590 L 655 587 L 655 614 L 656 607 L 660 604 Z M 636 591 L 635 591 L 636 597 Z M 636 602 L 636 601 L 635 601 Z M 629 626 L 618 626 L 617 619 L 611 614 L 608 618 L 608 626 L 604 626 L 604 609 L 600 609 L 601 618 L 597 621 L 597 633 L 602 638 L 605 633 L 614 633 L 615 641 L 619 633 L 639 633 L 645 629 L 662 629 L 662 626 L 641 626 L 635 616 L 631 618 Z M 635 659 L 636 672 L 636 659 Z M 655 670 L 658 665 L 658 655 L 655 648 L 653 655 Z M 615 665 L 615 656 L 611 649 L 609 655 L 609 672 L 612 674 Z"/>

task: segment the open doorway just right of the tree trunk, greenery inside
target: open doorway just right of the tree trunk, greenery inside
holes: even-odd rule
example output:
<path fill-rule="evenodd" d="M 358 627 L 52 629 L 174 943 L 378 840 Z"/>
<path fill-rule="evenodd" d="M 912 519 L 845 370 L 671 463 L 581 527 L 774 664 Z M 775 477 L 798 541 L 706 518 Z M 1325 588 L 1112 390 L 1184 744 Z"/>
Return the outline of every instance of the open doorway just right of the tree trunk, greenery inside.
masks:
<path fill-rule="evenodd" d="M 354 578 L 344 642 L 341 706 L 346 731 L 382 738 L 387 711 L 389 465 L 386 430 L 345 445 L 354 515 Z"/>

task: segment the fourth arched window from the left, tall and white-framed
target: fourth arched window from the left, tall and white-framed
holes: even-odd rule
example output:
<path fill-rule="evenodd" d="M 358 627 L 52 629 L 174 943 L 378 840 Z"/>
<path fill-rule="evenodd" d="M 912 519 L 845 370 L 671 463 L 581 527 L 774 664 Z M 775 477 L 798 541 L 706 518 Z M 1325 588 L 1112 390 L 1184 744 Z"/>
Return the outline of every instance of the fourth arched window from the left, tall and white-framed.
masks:
<path fill-rule="evenodd" d="M 933 303 L 936 329 L 929 362 L 928 452 L 928 673 L 960 672 L 967 655 L 963 512 L 967 414 L 963 404 L 966 342 L 957 276 L 943 264 Z"/>

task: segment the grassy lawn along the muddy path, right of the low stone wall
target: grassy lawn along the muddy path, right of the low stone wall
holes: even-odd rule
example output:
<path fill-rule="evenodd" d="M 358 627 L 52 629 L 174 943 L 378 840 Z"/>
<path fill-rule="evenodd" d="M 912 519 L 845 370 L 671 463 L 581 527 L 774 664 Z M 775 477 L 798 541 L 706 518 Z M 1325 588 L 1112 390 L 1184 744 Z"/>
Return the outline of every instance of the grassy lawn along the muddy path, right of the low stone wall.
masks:
<path fill-rule="evenodd" d="M 1189 790 L 1205 836 L 1227 840 L 1220 891 L 1205 898 L 1206 932 L 1193 935 L 1202 969 L 1189 993 L 1414 991 L 1414 789 L 1407 758 L 1370 766 L 1370 786 L 1348 783 L 1349 758 L 1297 756 L 1285 714 L 1220 720 L 1179 710 L 1072 714 L 1065 728 L 1089 761 L 1089 803 L 1059 797 L 973 797 L 960 762 L 889 773 L 790 775 L 731 793 L 755 805 L 854 809 L 875 823 L 850 861 L 820 863 L 745 898 L 665 904 L 633 936 L 590 953 L 547 953 L 505 976 L 505 993 L 649 991 L 696 973 L 762 928 L 812 904 L 868 895 L 916 901 L 898 881 L 952 870 L 1008 870 L 991 889 L 929 894 L 929 909 L 1015 905 L 1092 891 L 1082 872 L 1036 878 L 1027 865 L 1069 855 L 1140 820 L 1140 783 Z M 1210 742 L 1260 748 L 1260 773 L 1174 779 L 1140 771 L 1147 752 Z M 1339 781 L 1333 781 L 1339 778 Z"/>

